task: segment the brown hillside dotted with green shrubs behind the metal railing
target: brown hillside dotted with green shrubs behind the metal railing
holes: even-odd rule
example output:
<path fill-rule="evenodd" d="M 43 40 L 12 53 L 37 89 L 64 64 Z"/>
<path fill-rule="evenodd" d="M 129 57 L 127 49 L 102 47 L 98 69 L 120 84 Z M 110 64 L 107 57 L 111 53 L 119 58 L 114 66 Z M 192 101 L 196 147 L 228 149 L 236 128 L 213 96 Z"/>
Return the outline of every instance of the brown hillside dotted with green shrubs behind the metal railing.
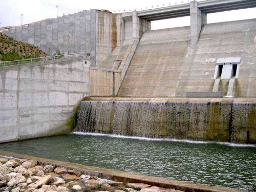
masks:
<path fill-rule="evenodd" d="M 48 56 L 38 47 L 16 41 L 0 33 L 0 61 L 11 61 Z"/>

